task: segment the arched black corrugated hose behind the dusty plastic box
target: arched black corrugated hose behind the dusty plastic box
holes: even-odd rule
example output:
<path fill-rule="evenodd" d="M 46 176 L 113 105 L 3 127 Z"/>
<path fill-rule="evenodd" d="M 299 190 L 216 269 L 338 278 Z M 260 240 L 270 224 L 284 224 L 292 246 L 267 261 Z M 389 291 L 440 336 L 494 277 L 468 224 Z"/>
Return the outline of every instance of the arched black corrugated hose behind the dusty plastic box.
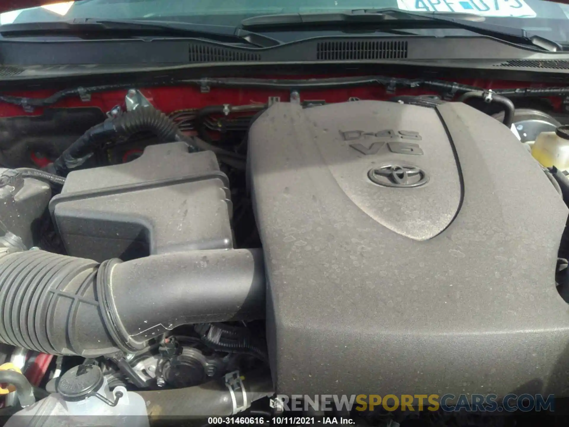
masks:
<path fill-rule="evenodd" d="M 183 137 L 166 114 L 152 107 L 137 108 L 93 126 L 53 162 L 53 169 L 57 175 L 67 176 L 69 170 L 79 166 L 81 159 L 92 154 L 98 145 L 111 138 L 129 137 L 143 131 L 154 133 L 162 142 L 181 141 Z"/>

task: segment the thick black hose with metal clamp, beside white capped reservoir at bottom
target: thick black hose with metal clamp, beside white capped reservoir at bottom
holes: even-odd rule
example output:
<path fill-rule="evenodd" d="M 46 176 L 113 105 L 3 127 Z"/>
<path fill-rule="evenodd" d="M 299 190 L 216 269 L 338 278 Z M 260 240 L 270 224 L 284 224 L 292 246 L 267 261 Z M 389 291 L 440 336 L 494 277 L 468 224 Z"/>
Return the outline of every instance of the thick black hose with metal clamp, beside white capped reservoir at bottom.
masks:
<path fill-rule="evenodd" d="M 247 396 L 246 408 L 251 403 L 274 393 L 273 381 L 268 369 L 245 373 L 242 380 Z M 223 379 L 194 387 L 171 390 L 139 391 L 146 402 L 149 417 L 195 417 L 229 416 L 234 413 L 234 406 L 229 388 Z M 241 406 L 242 392 L 235 392 L 238 405 Z"/>

